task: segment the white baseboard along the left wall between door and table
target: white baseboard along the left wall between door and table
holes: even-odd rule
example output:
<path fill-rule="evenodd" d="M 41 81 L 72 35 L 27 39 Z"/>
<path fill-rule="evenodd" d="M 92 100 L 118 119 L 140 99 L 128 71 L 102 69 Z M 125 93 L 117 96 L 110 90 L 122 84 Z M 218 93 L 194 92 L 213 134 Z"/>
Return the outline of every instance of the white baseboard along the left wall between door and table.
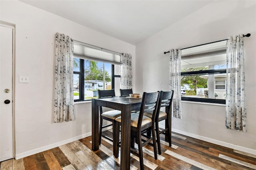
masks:
<path fill-rule="evenodd" d="M 30 155 L 33 155 L 33 154 L 37 154 L 39 152 L 43 152 L 45 150 L 49 150 L 49 149 L 52 149 L 52 148 L 55 148 L 55 147 L 58 147 L 58 146 L 61 146 L 63 144 L 67 144 L 67 143 L 70 143 L 70 142 L 74 142 L 76 140 L 79 140 L 79 139 L 82 139 L 82 138 L 85 138 L 85 137 L 88 137 L 88 136 L 91 136 L 92 135 L 92 132 L 88 132 L 86 134 L 81 134 L 79 136 L 76 136 L 76 137 L 73 137 L 73 138 L 69 138 L 69 139 L 66 139 L 66 140 L 62 140 L 60 142 L 56 142 L 56 143 L 53 143 L 53 144 L 49 144 L 47 146 L 43 146 L 43 147 L 40 147 L 40 148 L 36 148 L 36 149 L 33 149 L 33 150 L 29 150 L 27 152 L 23 152 L 23 153 L 20 153 L 20 154 L 16 154 L 15 155 L 15 159 L 20 159 L 20 158 L 24 158 L 26 156 L 30 156 Z"/>

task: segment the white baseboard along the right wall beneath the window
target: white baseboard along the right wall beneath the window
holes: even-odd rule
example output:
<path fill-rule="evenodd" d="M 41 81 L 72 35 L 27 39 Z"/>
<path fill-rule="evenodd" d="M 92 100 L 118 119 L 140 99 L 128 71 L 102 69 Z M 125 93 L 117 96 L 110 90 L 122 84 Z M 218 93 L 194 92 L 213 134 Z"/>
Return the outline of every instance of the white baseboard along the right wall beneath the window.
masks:
<path fill-rule="evenodd" d="M 163 125 L 159 125 L 159 127 L 160 128 L 165 128 Z M 250 148 L 246 148 L 246 147 L 243 147 L 243 146 L 238 146 L 238 145 L 235 145 L 235 144 L 230 144 L 230 143 L 227 143 L 227 142 L 222 142 L 220 140 L 215 140 L 215 139 L 212 139 L 212 138 L 207 138 L 207 137 L 200 136 L 200 135 L 197 135 L 197 134 L 193 134 L 193 133 L 189 133 L 189 132 L 184 132 L 182 130 L 178 130 L 178 129 L 175 129 L 175 128 L 172 128 L 172 132 L 176 132 L 176 133 L 183 134 L 183 135 L 186 135 L 186 136 L 189 136 L 189 137 L 192 137 L 192 138 L 196 138 L 196 139 L 203 140 L 203 141 L 206 141 L 206 142 L 210 142 L 210 143 L 213 143 L 213 144 L 218 144 L 220 146 L 225 146 L 227 148 L 232 148 L 234 150 L 239 150 L 239 151 L 242 151 L 242 152 L 246 152 L 246 153 L 249 153 L 249 154 L 256 155 L 256 150 L 253 150 L 253 149 L 250 149 Z"/>

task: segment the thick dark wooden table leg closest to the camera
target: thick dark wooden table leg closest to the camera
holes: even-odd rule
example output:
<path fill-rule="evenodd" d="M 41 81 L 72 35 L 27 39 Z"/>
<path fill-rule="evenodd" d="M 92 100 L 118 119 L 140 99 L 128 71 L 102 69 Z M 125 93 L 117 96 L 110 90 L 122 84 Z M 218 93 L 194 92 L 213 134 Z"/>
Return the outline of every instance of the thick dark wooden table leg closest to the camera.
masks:
<path fill-rule="evenodd" d="M 130 170 L 131 105 L 122 107 L 121 115 L 121 170 Z"/>

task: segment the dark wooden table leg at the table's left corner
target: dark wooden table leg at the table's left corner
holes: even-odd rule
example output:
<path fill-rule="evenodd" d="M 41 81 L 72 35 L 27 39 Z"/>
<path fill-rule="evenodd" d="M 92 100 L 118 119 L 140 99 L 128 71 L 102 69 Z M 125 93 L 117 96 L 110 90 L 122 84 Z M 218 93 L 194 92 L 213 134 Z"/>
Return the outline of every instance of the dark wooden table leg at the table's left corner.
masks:
<path fill-rule="evenodd" d="M 99 106 L 92 99 L 92 150 L 99 149 Z"/>

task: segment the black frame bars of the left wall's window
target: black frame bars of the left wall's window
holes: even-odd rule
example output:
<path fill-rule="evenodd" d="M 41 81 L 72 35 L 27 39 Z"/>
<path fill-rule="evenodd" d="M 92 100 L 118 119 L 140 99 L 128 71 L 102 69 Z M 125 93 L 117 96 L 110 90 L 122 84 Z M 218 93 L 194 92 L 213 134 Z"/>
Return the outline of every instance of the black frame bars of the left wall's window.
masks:
<path fill-rule="evenodd" d="M 75 56 L 74 56 L 75 57 Z M 79 99 L 75 99 L 74 102 L 78 101 L 92 101 L 92 99 L 84 100 L 84 60 L 90 60 L 90 59 L 81 59 L 79 57 L 75 57 L 79 59 L 80 63 L 80 70 L 79 71 L 73 71 L 74 74 L 79 75 Z M 106 63 L 105 61 L 101 61 L 102 63 Z M 115 77 L 121 77 L 121 75 L 114 75 L 114 64 L 111 64 L 111 88 L 114 89 L 114 78 Z M 83 81 L 82 81 L 83 80 Z M 83 88 L 82 88 L 83 87 Z"/>

